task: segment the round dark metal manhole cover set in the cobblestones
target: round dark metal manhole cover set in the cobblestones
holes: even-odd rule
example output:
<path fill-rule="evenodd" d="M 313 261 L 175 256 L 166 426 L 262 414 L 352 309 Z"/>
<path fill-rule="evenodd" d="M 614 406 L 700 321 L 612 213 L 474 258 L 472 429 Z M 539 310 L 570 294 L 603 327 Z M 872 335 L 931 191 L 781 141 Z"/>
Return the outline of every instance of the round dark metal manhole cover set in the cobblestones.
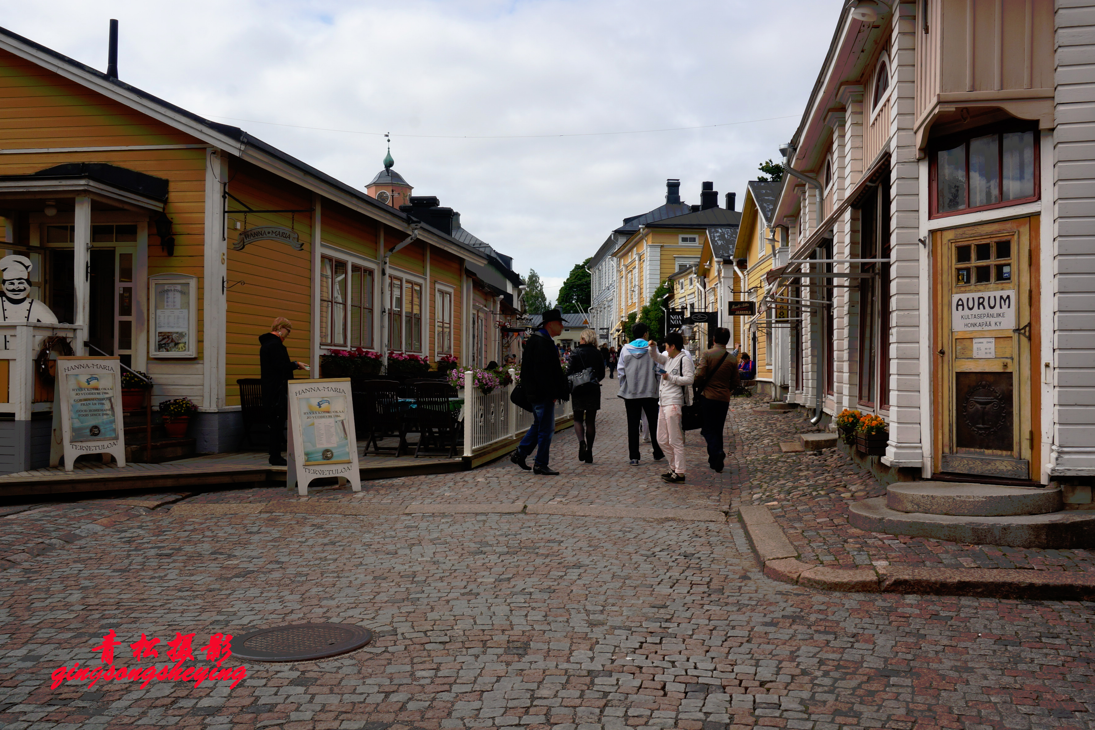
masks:
<path fill-rule="evenodd" d="M 371 640 L 372 631 L 353 624 L 275 626 L 232 639 L 232 656 L 255 661 L 304 661 L 344 654 Z"/>

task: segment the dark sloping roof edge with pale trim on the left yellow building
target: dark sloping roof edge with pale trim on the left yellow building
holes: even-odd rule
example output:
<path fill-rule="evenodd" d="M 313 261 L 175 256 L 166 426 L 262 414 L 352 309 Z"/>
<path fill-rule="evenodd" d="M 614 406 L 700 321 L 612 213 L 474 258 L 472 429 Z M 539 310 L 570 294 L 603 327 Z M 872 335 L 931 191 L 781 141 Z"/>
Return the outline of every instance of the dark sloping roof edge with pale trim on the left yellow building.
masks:
<path fill-rule="evenodd" d="M 30 38 L 24 38 L 18 33 L 12 33 L 5 27 L 0 27 L 0 49 L 58 73 L 70 81 L 96 91 L 193 137 L 197 137 L 208 142 L 211 147 L 227 150 L 241 160 L 274 172 L 278 176 L 302 187 L 326 194 L 332 199 L 362 212 L 362 209 L 366 209 L 373 217 L 381 220 L 387 219 L 387 222 L 397 224 L 404 230 L 410 228 L 410 216 L 406 213 L 392 208 L 388 204 L 380 202 L 376 198 L 366 195 L 365 190 L 359 190 L 351 185 L 347 185 L 298 160 L 291 154 L 283 152 L 273 144 L 252 137 L 240 127 L 206 119 L 181 106 L 175 106 L 158 96 L 153 96 L 125 81 L 111 78 L 97 69 L 93 69 L 85 63 L 57 53 L 53 48 L 47 48 Z M 258 154 L 255 153 L 256 150 L 260 152 Z M 287 166 L 291 170 L 286 170 Z M 311 178 L 314 183 L 309 184 L 308 178 Z M 430 225 L 424 225 L 424 228 L 428 229 L 429 233 L 442 244 L 441 247 L 456 248 L 457 251 L 453 251 L 453 253 L 459 253 L 476 263 L 485 263 L 482 254 L 475 248 L 457 241 L 447 233 L 438 231 Z M 443 244 L 449 245 L 446 246 Z"/>

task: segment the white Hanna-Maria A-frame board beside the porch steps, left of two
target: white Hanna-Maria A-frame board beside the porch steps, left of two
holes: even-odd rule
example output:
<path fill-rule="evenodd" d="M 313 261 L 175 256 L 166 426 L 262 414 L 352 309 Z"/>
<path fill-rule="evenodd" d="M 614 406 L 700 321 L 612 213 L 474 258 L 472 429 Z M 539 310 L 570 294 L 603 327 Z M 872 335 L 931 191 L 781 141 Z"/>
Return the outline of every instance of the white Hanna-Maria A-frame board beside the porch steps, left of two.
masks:
<path fill-rule="evenodd" d="M 50 464 L 65 459 L 71 472 L 81 454 L 111 454 L 126 465 L 125 428 L 122 419 L 122 364 L 118 358 L 58 357 L 56 386 L 61 449 L 50 454 Z"/>

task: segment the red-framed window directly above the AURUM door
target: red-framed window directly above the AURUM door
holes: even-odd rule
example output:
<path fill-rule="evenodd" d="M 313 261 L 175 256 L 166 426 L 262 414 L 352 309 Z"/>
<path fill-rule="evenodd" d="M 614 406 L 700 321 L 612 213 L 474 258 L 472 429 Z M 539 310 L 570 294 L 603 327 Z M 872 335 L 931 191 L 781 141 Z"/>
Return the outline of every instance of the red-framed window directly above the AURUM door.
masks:
<path fill-rule="evenodd" d="M 934 216 L 1038 198 L 1038 140 L 1033 129 L 982 130 L 940 140 L 934 147 Z"/>

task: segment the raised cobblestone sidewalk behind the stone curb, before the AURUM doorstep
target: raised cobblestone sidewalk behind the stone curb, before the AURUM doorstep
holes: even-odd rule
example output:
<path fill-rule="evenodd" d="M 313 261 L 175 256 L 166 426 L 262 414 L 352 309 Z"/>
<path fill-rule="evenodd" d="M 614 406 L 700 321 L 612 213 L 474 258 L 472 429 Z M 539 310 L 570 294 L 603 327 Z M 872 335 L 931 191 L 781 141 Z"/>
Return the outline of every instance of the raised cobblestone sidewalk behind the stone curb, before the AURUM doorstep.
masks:
<path fill-rule="evenodd" d="M 731 405 L 730 419 L 740 443 L 738 459 L 750 476 L 741 486 L 741 498 L 747 505 L 770 507 L 804 563 L 1095 570 L 1095 551 L 1090 549 L 961 545 L 853 528 L 848 523 L 848 506 L 881 497 L 886 488 L 839 449 L 781 453 L 781 441 L 819 429 L 796 413 L 756 413 L 766 407 L 766 401 L 758 396 Z"/>

